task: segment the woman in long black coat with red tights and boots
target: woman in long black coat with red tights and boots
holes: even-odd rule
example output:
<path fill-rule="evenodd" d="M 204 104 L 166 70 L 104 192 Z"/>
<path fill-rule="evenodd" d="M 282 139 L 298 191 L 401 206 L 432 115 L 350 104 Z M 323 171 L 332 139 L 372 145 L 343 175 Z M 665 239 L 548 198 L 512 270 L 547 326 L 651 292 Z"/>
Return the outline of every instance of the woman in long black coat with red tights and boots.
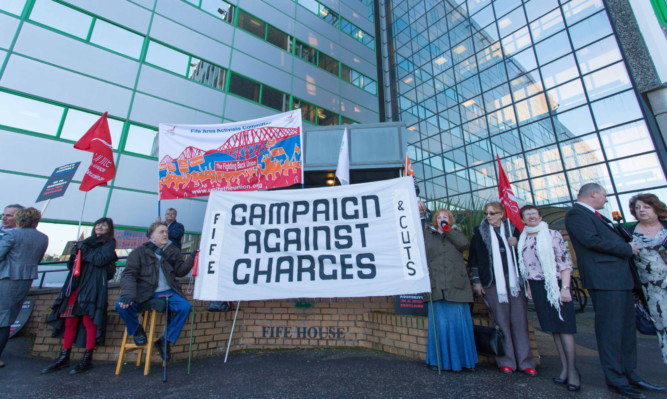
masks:
<path fill-rule="evenodd" d="M 77 256 L 80 262 L 77 262 Z M 116 260 L 113 220 L 101 218 L 95 222 L 91 236 L 72 248 L 67 265 L 70 272 L 46 320 L 54 328 L 53 336 L 63 337 L 63 349 L 55 362 L 42 370 L 42 374 L 69 365 L 75 339 L 77 346 L 85 345 L 86 352 L 70 374 L 82 373 L 93 367 L 95 345 L 104 344 L 107 280 L 113 278 Z"/>

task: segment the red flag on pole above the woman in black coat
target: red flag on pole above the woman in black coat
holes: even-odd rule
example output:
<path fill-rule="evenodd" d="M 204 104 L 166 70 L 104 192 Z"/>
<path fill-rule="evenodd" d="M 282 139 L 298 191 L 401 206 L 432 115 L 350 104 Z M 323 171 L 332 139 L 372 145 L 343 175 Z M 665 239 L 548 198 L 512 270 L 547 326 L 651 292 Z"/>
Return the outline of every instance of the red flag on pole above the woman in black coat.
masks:
<path fill-rule="evenodd" d="M 116 165 L 113 162 L 111 133 L 106 112 L 74 144 L 74 148 L 93 153 L 93 160 L 83 176 L 79 190 L 90 191 L 98 185 L 106 186 L 107 182 L 113 179 Z"/>

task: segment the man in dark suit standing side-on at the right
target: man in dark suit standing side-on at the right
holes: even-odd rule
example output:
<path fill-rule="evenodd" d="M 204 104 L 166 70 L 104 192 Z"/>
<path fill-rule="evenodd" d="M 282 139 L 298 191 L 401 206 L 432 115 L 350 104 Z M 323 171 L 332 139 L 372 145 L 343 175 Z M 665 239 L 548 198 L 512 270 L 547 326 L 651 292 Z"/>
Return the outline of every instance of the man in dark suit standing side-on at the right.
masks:
<path fill-rule="evenodd" d="M 636 373 L 637 335 L 629 260 L 639 249 L 626 242 L 612 222 L 598 213 L 607 192 L 597 183 L 584 184 L 577 202 L 565 216 L 565 227 L 577 255 L 584 288 L 595 309 L 595 337 L 600 363 L 610 389 L 643 398 L 640 389 L 664 390 Z"/>

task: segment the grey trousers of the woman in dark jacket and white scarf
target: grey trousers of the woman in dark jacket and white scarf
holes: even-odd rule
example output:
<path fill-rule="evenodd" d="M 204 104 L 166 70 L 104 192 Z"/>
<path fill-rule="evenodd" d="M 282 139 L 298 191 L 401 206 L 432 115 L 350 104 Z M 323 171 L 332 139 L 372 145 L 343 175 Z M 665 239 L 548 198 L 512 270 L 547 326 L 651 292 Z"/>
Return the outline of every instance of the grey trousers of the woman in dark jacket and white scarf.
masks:
<path fill-rule="evenodd" d="M 496 357 L 496 364 L 498 367 L 510 367 L 512 370 L 534 369 L 535 358 L 530 350 L 528 334 L 528 301 L 523 287 L 516 297 L 509 294 L 507 287 L 509 303 L 498 302 L 495 284 L 484 290 L 496 323 L 505 334 L 505 356 Z"/>

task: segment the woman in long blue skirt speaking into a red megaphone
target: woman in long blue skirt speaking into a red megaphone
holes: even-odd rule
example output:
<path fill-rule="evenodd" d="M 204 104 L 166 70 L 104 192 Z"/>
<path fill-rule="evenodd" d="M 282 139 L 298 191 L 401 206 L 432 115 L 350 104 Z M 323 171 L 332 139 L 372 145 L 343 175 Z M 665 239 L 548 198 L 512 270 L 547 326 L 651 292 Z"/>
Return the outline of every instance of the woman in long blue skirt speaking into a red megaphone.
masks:
<path fill-rule="evenodd" d="M 477 363 L 468 305 L 473 297 L 463 261 L 468 239 L 453 224 L 452 213 L 440 209 L 424 231 L 431 279 L 431 294 L 424 299 L 429 301 L 426 363 L 433 369 L 472 370 Z"/>

